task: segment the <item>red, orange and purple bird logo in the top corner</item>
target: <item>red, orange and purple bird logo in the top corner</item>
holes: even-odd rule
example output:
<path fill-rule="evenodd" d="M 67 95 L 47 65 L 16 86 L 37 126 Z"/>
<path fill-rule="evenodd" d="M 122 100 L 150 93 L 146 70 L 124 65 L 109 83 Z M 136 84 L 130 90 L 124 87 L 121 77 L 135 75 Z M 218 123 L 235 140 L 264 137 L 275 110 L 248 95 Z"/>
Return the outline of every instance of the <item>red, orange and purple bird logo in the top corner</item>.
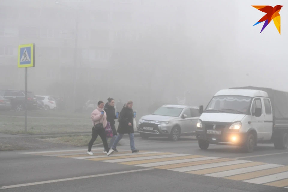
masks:
<path fill-rule="evenodd" d="M 262 23 L 263 21 L 265 21 L 261 32 L 265 29 L 265 27 L 267 27 L 267 25 L 272 21 L 274 21 L 274 24 L 279 32 L 279 34 L 281 35 L 281 18 L 280 18 L 280 14 L 279 11 L 281 10 L 281 8 L 283 7 L 283 5 L 276 5 L 275 7 L 271 7 L 271 6 L 266 6 L 266 5 L 252 5 L 252 7 L 255 7 L 256 9 L 266 13 L 258 22 L 256 22 L 253 26 Z M 260 33 L 261 33 L 260 32 Z"/>

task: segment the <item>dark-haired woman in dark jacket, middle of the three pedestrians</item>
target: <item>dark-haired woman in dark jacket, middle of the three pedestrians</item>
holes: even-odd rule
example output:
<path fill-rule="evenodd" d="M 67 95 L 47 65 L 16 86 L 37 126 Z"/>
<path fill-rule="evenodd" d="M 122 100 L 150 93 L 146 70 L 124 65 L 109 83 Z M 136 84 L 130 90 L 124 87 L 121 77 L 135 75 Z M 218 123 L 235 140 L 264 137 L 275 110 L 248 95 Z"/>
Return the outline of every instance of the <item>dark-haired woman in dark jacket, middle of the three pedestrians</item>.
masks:
<path fill-rule="evenodd" d="M 108 98 L 108 103 L 105 104 L 104 106 L 104 111 L 106 112 L 107 114 L 107 122 L 110 123 L 110 126 L 111 126 L 111 129 L 113 131 L 113 137 L 111 138 L 111 141 L 108 145 L 109 149 L 111 148 L 111 146 L 113 145 L 116 137 L 117 137 L 117 131 L 116 131 L 116 128 L 115 128 L 115 120 L 114 119 L 117 119 L 116 118 L 116 115 L 115 115 L 115 108 L 114 108 L 114 105 L 115 105 L 115 101 L 113 98 Z M 106 138 L 107 141 L 108 141 L 108 138 Z M 106 150 L 104 148 L 104 153 L 106 153 Z"/>

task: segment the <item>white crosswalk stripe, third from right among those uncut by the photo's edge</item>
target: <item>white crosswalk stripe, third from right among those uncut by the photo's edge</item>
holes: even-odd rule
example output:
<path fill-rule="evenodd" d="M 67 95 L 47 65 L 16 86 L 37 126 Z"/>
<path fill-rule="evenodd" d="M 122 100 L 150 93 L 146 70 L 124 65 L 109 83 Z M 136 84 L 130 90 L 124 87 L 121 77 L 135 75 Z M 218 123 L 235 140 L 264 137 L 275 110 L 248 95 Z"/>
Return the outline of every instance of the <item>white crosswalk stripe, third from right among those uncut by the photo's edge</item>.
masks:
<path fill-rule="evenodd" d="M 163 161 L 163 162 L 156 162 L 156 163 L 138 164 L 135 166 L 155 167 L 155 166 L 161 166 L 161 165 L 187 163 L 187 162 L 193 162 L 193 161 L 205 161 L 205 160 L 211 160 L 211 159 L 220 159 L 220 158 L 219 157 L 201 157 L 201 158 L 192 158 L 192 159 L 179 159 L 179 160 L 173 160 L 173 161 Z"/>

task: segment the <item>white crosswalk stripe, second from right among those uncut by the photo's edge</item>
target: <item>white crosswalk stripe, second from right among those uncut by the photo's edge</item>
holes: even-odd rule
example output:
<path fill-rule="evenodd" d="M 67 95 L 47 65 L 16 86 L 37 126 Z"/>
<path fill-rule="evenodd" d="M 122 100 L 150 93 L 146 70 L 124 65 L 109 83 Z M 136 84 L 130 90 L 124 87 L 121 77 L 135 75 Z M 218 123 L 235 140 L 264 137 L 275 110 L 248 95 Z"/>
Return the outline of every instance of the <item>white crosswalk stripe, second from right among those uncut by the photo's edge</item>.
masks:
<path fill-rule="evenodd" d="M 170 169 L 172 171 L 179 171 L 179 172 L 187 172 L 187 171 L 195 171 L 195 170 L 201 170 L 201 169 L 207 169 L 207 168 L 213 168 L 213 167 L 221 167 L 226 165 L 235 165 L 235 164 L 242 164 L 242 163 L 248 163 L 251 161 L 245 161 L 245 160 L 235 160 L 235 161 L 225 161 L 225 162 L 218 162 L 218 163 L 211 163 L 211 164 L 203 164 L 203 165 L 194 165 L 189 167 L 179 167 L 175 169 Z"/>

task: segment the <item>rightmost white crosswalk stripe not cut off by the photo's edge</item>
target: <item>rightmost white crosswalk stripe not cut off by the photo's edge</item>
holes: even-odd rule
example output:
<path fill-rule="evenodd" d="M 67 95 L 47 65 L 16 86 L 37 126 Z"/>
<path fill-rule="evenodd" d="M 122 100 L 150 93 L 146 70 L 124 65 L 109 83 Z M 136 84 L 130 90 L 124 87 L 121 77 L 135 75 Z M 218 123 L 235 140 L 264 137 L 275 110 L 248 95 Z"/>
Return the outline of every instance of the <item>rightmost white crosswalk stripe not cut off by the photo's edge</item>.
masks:
<path fill-rule="evenodd" d="M 271 169 L 271 168 L 274 168 L 274 167 L 281 167 L 281 166 L 283 166 L 283 165 L 265 164 L 265 165 L 246 167 L 246 168 L 229 170 L 229 171 L 221 171 L 221 172 L 217 172 L 217 173 L 206 174 L 205 176 L 228 177 L 228 176 L 232 176 L 232 175 L 238 175 L 238 174 L 242 174 L 242 173 L 250 173 L 250 172 L 254 172 L 254 171 Z"/>

